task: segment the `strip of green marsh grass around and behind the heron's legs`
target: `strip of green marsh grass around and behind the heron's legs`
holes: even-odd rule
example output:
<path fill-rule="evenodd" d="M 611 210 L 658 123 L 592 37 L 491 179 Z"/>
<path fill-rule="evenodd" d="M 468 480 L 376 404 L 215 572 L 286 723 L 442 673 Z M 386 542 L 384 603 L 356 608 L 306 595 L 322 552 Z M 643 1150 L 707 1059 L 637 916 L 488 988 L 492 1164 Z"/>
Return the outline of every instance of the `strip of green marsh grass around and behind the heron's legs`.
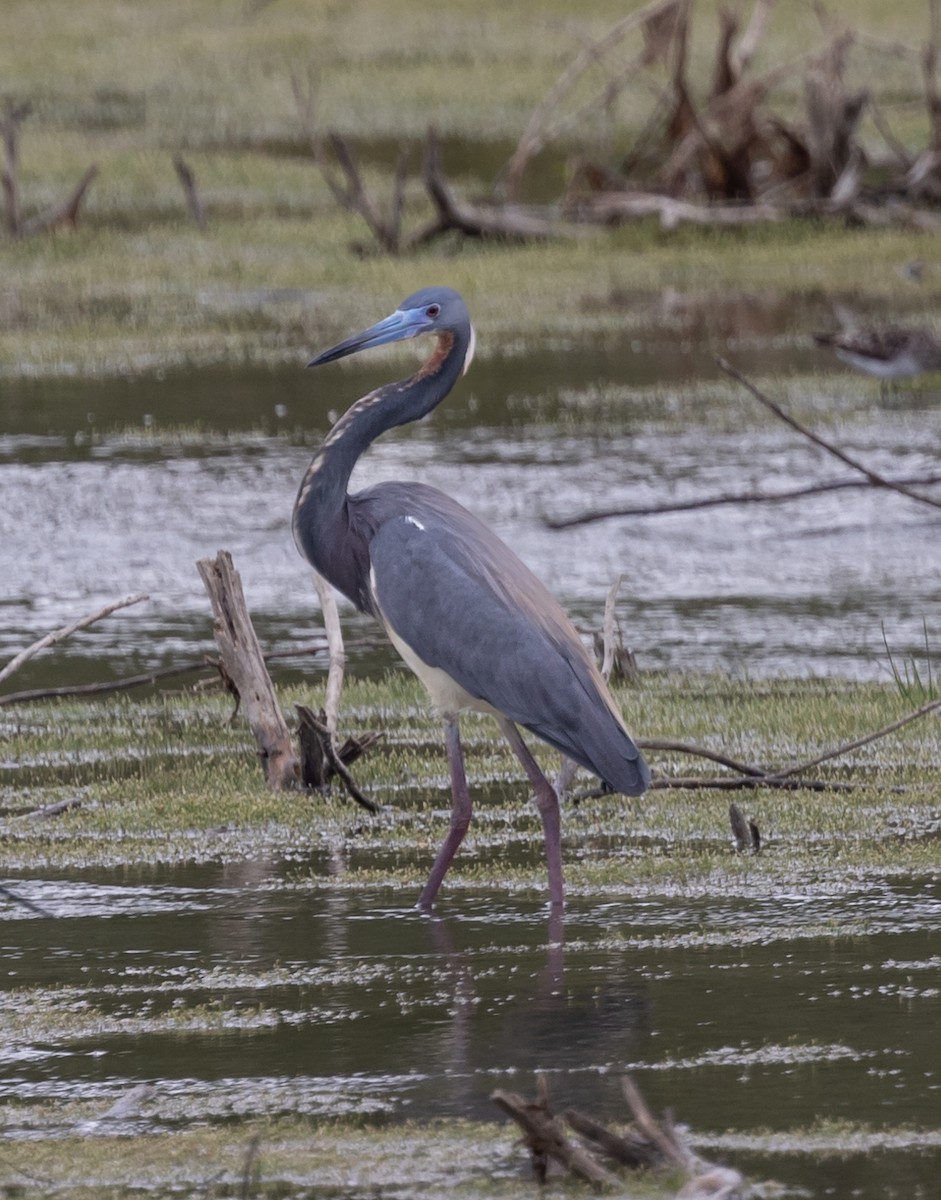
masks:
<path fill-rule="evenodd" d="M 282 698 L 288 712 L 295 701 L 311 702 L 308 691 L 294 689 Z M 645 677 L 619 698 L 639 737 L 700 743 L 765 767 L 813 757 L 910 707 L 892 685 L 721 677 Z M 376 884 L 409 894 L 419 887 L 449 799 L 438 722 L 410 678 L 395 672 L 350 682 L 344 694 L 346 727 L 384 732 L 356 769 L 360 786 L 383 805 L 374 820 L 364 820 L 338 790 L 265 791 L 248 732 L 241 720 L 230 726 L 229 713 L 227 700 L 184 694 L 5 710 L 0 806 L 8 868 L 35 874 L 53 864 L 272 854 L 299 862 L 298 881 L 317 887 Z M 539 895 L 539 823 L 515 762 L 485 718 L 467 718 L 464 736 L 478 804 L 449 887 Z M 539 754 L 555 770 L 555 756 L 545 748 Z M 679 756 L 651 758 L 665 778 L 705 769 Z M 852 784 L 851 792 L 744 793 L 741 803 L 762 829 L 757 857 L 731 850 L 727 793 L 670 790 L 639 803 L 569 806 L 569 886 L 595 896 L 677 887 L 708 893 L 730 880 L 773 890 L 785 880 L 816 877 L 821 857 L 853 877 L 936 869 L 941 850 L 929 834 L 940 763 L 941 736 L 929 718 L 815 772 Z M 67 798 L 82 805 L 46 821 L 25 816 L 30 806 Z M 329 880 L 317 865 L 326 847 L 356 852 Z"/>

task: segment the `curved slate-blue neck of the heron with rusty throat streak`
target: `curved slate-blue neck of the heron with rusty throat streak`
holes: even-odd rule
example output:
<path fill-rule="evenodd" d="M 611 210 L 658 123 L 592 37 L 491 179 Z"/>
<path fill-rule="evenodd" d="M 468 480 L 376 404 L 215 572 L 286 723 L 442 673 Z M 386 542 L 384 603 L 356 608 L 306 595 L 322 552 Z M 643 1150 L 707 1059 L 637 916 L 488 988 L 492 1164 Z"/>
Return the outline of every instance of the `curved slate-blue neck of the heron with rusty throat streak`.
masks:
<path fill-rule="evenodd" d="M 439 404 L 458 379 L 469 335 L 440 334 L 427 362 L 401 383 L 386 384 L 358 400 L 336 422 L 314 455 L 294 504 L 294 540 L 305 558 L 331 583 L 352 594 L 347 488 L 360 455 L 379 434 L 416 421 Z M 348 547 L 347 547 L 348 548 Z M 365 563 L 368 572 L 368 563 Z M 361 590 L 365 581 L 358 581 Z"/>

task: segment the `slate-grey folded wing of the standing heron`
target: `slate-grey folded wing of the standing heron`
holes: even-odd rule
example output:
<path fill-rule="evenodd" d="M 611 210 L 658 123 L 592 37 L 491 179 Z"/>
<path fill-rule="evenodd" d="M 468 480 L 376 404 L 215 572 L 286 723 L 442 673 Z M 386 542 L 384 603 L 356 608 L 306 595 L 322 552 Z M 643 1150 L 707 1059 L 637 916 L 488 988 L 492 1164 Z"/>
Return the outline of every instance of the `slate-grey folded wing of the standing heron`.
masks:
<path fill-rule="evenodd" d="M 643 791 L 642 760 L 568 618 L 496 535 L 461 512 L 437 521 L 419 511 L 377 530 L 370 560 L 385 622 L 472 696 L 618 791 Z"/>

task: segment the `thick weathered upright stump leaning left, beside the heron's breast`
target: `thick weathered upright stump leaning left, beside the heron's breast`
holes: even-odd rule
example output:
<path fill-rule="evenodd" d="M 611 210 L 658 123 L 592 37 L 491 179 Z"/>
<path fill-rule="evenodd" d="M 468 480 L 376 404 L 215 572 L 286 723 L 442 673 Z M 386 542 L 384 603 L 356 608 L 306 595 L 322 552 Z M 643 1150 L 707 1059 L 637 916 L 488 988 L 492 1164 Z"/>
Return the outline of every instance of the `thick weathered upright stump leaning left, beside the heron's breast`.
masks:
<path fill-rule="evenodd" d="M 298 760 L 290 731 L 265 668 L 232 554 L 221 550 L 215 558 L 200 558 L 196 565 L 216 618 L 214 634 L 222 665 L 245 704 L 265 781 L 275 790 L 296 787 Z"/>

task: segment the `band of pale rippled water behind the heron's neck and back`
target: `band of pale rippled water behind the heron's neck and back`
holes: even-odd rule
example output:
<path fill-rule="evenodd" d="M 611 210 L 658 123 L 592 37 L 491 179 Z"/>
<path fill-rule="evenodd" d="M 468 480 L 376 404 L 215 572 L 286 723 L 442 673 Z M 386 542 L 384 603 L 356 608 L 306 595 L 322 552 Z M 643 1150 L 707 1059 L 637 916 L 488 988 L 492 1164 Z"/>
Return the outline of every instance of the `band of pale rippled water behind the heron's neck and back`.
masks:
<path fill-rule="evenodd" d="M 778 398 L 874 469 L 935 468 L 935 395 L 881 404 L 871 382 L 811 374 L 828 360 L 783 335 L 784 313 L 753 310 L 685 314 L 679 341 L 667 313 L 643 337 L 479 361 L 432 419 L 382 438 L 355 481 L 418 478 L 456 496 L 583 625 L 600 624 L 623 574 L 619 619 L 642 668 L 889 678 L 885 632 L 897 666 L 917 660 L 924 673 L 923 623 L 930 643 L 941 589 L 931 509 L 870 490 L 546 526 L 598 506 L 849 476 L 719 376 L 715 346 L 777 377 Z M 0 380 L 0 661 L 118 596 L 151 598 L 34 660 L 17 688 L 211 650 L 194 562 L 220 547 L 234 554 L 265 646 L 310 643 L 316 601 L 289 532 L 298 481 L 332 416 L 412 360 L 364 356 L 314 374 L 302 358 L 271 371 Z M 181 424 L 197 427 L 181 438 L 172 432 Z M 350 638 L 376 632 L 347 616 Z M 388 650 L 354 653 L 367 668 L 395 661 Z"/>

